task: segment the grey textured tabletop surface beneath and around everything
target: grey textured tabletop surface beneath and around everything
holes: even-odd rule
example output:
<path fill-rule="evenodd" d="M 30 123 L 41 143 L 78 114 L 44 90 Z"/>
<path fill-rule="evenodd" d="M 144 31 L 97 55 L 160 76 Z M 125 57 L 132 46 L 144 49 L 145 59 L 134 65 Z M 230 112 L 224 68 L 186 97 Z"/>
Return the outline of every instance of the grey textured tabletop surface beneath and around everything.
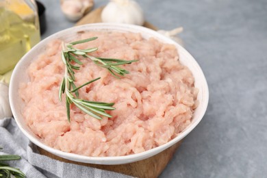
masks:
<path fill-rule="evenodd" d="M 108 1 L 95 0 L 95 8 Z M 160 29 L 181 38 L 209 85 L 209 107 L 160 177 L 267 176 L 267 1 L 138 1 Z M 59 1 L 42 0 L 47 31 L 72 27 Z"/>

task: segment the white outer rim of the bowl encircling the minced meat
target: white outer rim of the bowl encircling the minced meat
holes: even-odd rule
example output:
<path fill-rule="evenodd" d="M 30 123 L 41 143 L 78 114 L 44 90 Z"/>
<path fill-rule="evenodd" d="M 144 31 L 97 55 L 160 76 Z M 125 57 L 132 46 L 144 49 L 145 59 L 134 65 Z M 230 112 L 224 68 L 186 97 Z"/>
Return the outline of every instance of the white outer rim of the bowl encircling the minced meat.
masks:
<path fill-rule="evenodd" d="M 55 39 L 57 36 L 64 37 L 62 34 L 66 34 L 67 32 L 75 33 L 77 31 L 81 30 L 87 30 L 87 31 L 92 31 L 93 29 L 107 29 L 108 30 L 115 30 L 115 28 L 118 29 L 123 29 L 126 32 L 127 31 L 138 31 L 139 33 L 146 32 L 148 34 L 151 34 L 153 37 L 158 37 L 166 43 L 170 44 L 175 44 L 175 46 L 179 47 L 179 50 L 182 50 L 183 52 L 187 53 L 189 58 L 192 58 L 192 60 L 196 63 L 195 65 L 199 68 L 199 75 L 203 77 L 203 88 L 205 89 L 203 92 L 204 94 L 204 99 L 203 99 L 203 110 L 201 110 L 201 113 L 199 114 L 198 118 L 194 123 L 190 123 L 186 129 L 184 129 L 181 133 L 179 133 L 178 136 L 170 140 L 169 142 L 162 144 L 158 147 L 155 147 L 153 149 L 149 149 L 148 151 L 143 151 L 141 153 L 135 153 L 132 155 L 123 155 L 123 156 L 110 156 L 110 157 L 92 157 L 92 156 L 86 156 L 86 155 L 78 155 L 75 153 L 66 153 L 64 151 L 60 151 L 58 149 L 53 149 L 52 147 L 47 146 L 46 144 L 42 143 L 40 140 L 35 138 L 34 136 L 31 135 L 26 129 L 23 128 L 21 125 L 20 121 L 18 120 L 18 111 L 15 109 L 15 101 L 16 99 L 14 98 L 14 92 L 18 92 L 17 90 L 15 91 L 16 88 L 14 88 L 14 82 L 16 82 L 16 71 L 18 71 L 18 68 L 23 66 L 23 61 L 28 58 L 28 56 L 31 55 L 32 51 L 36 50 L 40 45 L 47 44 L 47 42 Z M 180 52 L 180 51 L 179 51 Z M 199 95 L 199 94 L 198 94 Z M 9 90 L 9 96 L 10 96 L 10 106 L 12 109 L 12 113 L 14 116 L 14 119 L 16 120 L 16 123 L 21 129 L 21 131 L 29 138 L 31 142 L 36 144 L 38 147 L 49 151 L 50 153 L 53 153 L 54 155 L 58 155 L 60 157 L 63 157 L 67 160 L 73 160 L 76 162 L 84 162 L 84 163 L 92 163 L 92 164 L 105 164 L 105 165 L 112 165 L 112 164 L 127 164 L 131 162 L 136 162 L 139 160 L 144 160 L 145 158 L 151 157 L 153 155 L 156 155 L 157 153 L 160 153 L 161 151 L 164 151 L 165 149 L 168 149 L 168 147 L 173 146 L 175 143 L 179 142 L 182 140 L 185 136 L 188 135 L 195 127 L 196 125 L 199 124 L 199 122 L 202 120 L 203 116 L 205 115 L 205 112 L 207 110 L 207 105 L 209 101 L 209 89 L 207 86 L 207 81 L 205 79 L 205 76 L 203 74 L 203 71 L 199 64 L 196 62 L 196 60 L 192 57 L 192 55 L 186 51 L 183 47 L 181 47 L 180 44 L 177 42 L 171 40 L 170 38 L 167 38 L 166 36 L 163 36 L 162 34 L 157 33 L 157 31 L 154 31 L 152 29 L 148 29 L 147 27 L 142 27 L 138 25 L 129 25 L 129 24 L 115 24 L 115 23 L 92 23 L 92 24 L 87 24 L 87 25 L 79 25 L 76 27 L 70 27 L 68 29 L 64 29 L 62 31 L 58 31 L 55 34 L 52 34 L 51 36 L 48 36 L 47 38 L 44 38 L 44 40 L 40 41 L 36 46 L 34 46 L 29 52 L 27 52 L 23 58 L 16 64 L 14 71 L 12 73 L 12 77 L 10 79 L 10 90 Z M 24 118 L 23 118 L 24 119 Z"/>

